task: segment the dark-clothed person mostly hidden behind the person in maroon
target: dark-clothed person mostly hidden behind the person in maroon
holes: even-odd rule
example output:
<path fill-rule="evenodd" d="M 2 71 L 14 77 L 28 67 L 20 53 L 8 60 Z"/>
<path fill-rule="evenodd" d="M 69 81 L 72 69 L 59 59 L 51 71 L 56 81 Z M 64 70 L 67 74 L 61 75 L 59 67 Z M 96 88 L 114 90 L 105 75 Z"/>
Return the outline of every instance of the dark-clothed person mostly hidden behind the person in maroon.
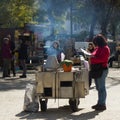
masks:
<path fill-rule="evenodd" d="M 10 50 L 12 53 L 12 58 L 11 58 L 11 69 L 13 72 L 13 77 L 16 76 L 16 72 L 15 72 L 15 43 L 14 41 L 11 39 L 11 35 L 8 34 L 7 37 L 9 38 L 9 44 L 10 44 Z M 9 70 L 9 74 L 10 74 L 10 70 Z"/>

